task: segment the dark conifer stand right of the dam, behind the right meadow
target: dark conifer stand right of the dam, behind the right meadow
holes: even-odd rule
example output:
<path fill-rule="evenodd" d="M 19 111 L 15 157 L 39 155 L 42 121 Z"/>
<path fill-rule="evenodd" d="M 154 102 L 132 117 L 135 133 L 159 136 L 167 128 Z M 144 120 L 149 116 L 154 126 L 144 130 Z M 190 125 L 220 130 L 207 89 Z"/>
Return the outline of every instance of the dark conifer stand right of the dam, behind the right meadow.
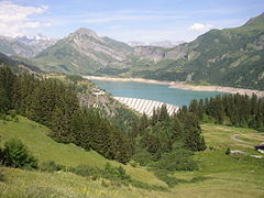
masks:
<path fill-rule="evenodd" d="M 264 131 L 264 98 L 222 95 L 206 100 L 193 100 L 184 111 L 195 113 L 200 121 L 211 121 Z"/>

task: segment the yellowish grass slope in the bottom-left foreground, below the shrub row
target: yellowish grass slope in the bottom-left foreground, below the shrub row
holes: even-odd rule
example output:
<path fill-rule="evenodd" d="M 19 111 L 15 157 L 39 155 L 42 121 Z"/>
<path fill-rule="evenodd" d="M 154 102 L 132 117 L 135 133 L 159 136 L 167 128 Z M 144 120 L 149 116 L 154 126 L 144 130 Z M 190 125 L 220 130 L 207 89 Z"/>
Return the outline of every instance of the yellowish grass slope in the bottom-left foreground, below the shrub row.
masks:
<path fill-rule="evenodd" d="M 168 197 L 170 193 L 147 191 L 132 186 L 119 186 L 106 179 L 92 180 L 72 173 L 41 173 L 3 168 L 8 175 L 0 182 L 0 197 L 3 198 L 141 198 Z"/>

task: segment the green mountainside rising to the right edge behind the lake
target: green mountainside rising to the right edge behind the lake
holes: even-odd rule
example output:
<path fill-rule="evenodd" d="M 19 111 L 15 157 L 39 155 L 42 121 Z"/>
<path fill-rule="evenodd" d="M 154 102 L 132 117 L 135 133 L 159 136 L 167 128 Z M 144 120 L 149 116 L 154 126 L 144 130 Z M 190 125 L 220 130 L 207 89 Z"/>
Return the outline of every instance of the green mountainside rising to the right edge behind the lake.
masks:
<path fill-rule="evenodd" d="M 141 46 L 136 53 L 153 65 L 132 77 L 264 90 L 264 14 L 173 48 Z"/>

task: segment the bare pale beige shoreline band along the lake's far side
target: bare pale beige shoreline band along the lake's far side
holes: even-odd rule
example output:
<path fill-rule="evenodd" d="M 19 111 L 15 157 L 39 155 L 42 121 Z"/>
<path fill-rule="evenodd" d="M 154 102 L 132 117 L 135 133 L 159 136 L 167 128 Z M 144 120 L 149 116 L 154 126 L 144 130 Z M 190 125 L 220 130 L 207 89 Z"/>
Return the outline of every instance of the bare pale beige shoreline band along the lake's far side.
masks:
<path fill-rule="evenodd" d="M 183 89 L 183 90 L 193 90 L 193 91 L 217 91 L 217 92 L 229 92 L 229 94 L 241 94 L 241 95 L 253 95 L 255 94 L 258 97 L 264 97 L 264 91 L 253 90 L 253 89 L 243 89 L 234 87 L 221 87 L 221 86 L 194 86 L 188 85 L 183 81 L 161 81 L 155 79 L 144 79 L 144 78 L 117 78 L 117 77 L 101 77 L 101 76 L 84 76 L 86 79 L 96 79 L 96 80 L 106 80 L 106 81 L 135 81 L 135 82 L 145 82 L 145 84 L 155 84 L 155 85 L 167 85 L 169 88 Z"/>

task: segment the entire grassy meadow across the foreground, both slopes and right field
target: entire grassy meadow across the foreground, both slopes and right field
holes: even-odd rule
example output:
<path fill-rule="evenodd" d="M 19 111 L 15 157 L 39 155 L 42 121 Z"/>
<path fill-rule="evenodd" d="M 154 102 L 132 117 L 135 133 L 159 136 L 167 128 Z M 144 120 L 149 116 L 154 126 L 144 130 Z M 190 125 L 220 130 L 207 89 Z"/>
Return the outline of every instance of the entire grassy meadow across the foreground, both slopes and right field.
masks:
<path fill-rule="evenodd" d="M 45 173 L 1 167 L 4 177 L 0 180 L 0 197 L 264 197 L 264 158 L 250 157 L 262 155 L 253 146 L 264 142 L 264 134 L 244 128 L 216 124 L 201 127 L 209 148 L 195 154 L 198 170 L 169 175 L 178 180 L 173 188 L 168 188 L 146 167 L 123 165 L 133 179 L 166 187 L 167 190 L 146 190 L 67 172 Z M 0 121 L 0 144 L 10 138 L 19 138 L 40 162 L 54 161 L 66 167 L 88 164 L 103 168 L 107 162 L 114 166 L 121 165 L 95 151 L 86 152 L 74 144 L 56 143 L 46 135 L 48 132 L 46 127 L 23 117 L 19 117 L 19 122 Z M 234 141 L 233 136 L 240 141 Z M 228 147 L 244 151 L 246 155 L 226 155 Z"/>

